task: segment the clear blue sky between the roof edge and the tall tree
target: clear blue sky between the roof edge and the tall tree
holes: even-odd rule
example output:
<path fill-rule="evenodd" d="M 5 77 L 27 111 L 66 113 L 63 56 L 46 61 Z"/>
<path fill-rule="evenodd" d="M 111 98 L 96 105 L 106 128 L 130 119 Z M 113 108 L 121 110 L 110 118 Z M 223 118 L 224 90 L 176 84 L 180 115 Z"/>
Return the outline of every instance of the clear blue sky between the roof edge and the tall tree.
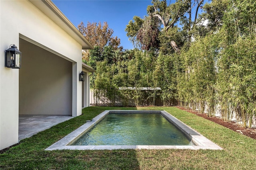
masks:
<path fill-rule="evenodd" d="M 132 43 L 126 37 L 126 25 L 133 16 L 146 16 L 151 0 L 52 0 L 62 13 L 77 27 L 83 21 L 90 23 L 106 21 L 114 30 L 113 36 L 121 39 L 124 49 L 132 49 Z"/>

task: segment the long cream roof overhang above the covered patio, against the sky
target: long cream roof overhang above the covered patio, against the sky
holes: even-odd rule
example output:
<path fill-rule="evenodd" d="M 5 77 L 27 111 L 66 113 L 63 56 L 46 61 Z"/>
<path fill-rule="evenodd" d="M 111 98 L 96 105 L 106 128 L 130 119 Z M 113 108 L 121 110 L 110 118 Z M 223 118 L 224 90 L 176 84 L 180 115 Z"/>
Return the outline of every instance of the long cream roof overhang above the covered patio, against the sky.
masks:
<path fill-rule="evenodd" d="M 78 31 L 73 23 L 58 9 L 51 0 L 29 0 L 48 18 L 82 45 L 82 49 L 94 49 L 93 45 Z"/>

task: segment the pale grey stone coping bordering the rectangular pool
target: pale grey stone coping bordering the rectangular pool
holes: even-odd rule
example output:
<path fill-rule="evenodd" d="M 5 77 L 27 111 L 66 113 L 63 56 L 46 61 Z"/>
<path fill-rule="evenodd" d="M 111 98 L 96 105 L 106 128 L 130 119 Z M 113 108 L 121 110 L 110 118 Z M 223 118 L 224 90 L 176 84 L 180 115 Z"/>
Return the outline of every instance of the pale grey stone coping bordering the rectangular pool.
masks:
<path fill-rule="evenodd" d="M 83 146 L 70 146 L 76 139 L 86 133 L 90 128 L 96 125 L 109 113 L 161 113 L 170 123 L 180 129 L 189 139 L 196 145 L 184 146 L 184 145 L 83 145 Z M 113 150 L 113 149 L 210 149 L 210 150 L 222 150 L 221 147 L 196 132 L 194 129 L 172 116 L 170 113 L 164 110 L 106 110 L 94 117 L 91 121 L 86 122 L 84 125 L 78 127 L 70 134 L 66 135 L 50 147 L 45 150 Z"/>

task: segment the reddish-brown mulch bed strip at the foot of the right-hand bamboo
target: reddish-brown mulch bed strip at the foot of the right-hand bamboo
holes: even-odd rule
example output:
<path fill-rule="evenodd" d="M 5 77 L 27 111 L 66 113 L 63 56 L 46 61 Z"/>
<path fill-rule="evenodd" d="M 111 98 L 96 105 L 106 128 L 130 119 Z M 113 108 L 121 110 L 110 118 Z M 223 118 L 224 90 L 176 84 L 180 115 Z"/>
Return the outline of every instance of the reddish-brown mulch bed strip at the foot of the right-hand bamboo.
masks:
<path fill-rule="evenodd" d="M 188 110 L 185 109 L 183 107 L 178 107 L 179 109 L 185 110 L 187 112 L 193 113 L 195 115 L 198 115 L 200 117 L 204 117 L 204 119 L 208 119 L 210 121 L 213 121 L 215 123 L 218 123 L 224 127 L 227 127 L 237 133 L 240 133 L 241 135 L 246 135 L 252 139 L 256 139 L 256 129 L 252 128 L 252 129 L 244 129 L 240 124 L 232 121 L 232 122 L 224 122 L 222 121 L 222 119 L 220 119 L 219 117 L 208 117 L 206 114 L 203 113 L 198 113 L 198 111 L 192 111 L 192 110 Z"/>

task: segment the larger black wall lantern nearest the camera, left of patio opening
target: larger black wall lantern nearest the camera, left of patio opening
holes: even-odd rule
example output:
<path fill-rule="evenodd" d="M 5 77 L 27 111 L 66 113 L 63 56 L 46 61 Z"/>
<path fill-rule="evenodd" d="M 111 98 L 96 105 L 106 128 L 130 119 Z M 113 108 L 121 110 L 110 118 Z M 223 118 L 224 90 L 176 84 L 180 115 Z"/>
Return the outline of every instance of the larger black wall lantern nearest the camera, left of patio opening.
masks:
<path fill-rule="evenodd" d="M 5 66 L 8 68 L 20 68 L 21 64 L 21 52 L 14 44 L 10 45 L 10 48 L 5 51 Z"/>

